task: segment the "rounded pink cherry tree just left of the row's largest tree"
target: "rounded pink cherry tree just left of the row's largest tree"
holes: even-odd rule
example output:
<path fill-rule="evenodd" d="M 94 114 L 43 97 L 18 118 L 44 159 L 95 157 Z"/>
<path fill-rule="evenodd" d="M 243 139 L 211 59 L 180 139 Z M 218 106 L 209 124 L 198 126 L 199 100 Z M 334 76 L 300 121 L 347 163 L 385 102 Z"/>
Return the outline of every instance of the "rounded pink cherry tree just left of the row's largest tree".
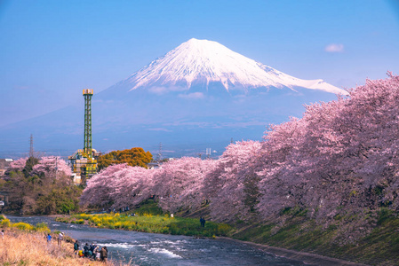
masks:
<path fill-rule="evenodd" d="M 205 177 L 203 187 L 211 200 L 211 216 L 215 221 L 251 218 L 259 198 L 259 176 L 255 169 L 260 147 L 257 141 L 228 145 L 216 168 Z"/>

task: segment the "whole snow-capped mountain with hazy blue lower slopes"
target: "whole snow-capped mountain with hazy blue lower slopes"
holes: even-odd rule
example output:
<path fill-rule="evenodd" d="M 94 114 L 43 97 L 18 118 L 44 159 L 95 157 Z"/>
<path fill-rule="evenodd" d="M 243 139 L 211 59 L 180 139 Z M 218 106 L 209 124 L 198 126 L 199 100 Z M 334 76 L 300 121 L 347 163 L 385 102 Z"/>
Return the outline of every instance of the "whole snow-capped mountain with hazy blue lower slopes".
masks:
<path fill-rule="evenodd" d="M 85 88 L 74 93 L 80 89 Z M 219 43 L 190 39 L 94 94 L 93 147 L 108 152 L 142 146 L 154 152 L 162 142 L 175 152 L 168 156 L 193 155 L 206 147 L 222 152 L 232 137 L 260 139 L 267 124 L 300 116 L 304 104 L 346 93 L 320 79 L 283 74 Z M 30 133 L 37 150 L 67 154 L 82 148 L 83 108 L 82 99 L 3 127 L 0 153 L 27 151 Z"/>

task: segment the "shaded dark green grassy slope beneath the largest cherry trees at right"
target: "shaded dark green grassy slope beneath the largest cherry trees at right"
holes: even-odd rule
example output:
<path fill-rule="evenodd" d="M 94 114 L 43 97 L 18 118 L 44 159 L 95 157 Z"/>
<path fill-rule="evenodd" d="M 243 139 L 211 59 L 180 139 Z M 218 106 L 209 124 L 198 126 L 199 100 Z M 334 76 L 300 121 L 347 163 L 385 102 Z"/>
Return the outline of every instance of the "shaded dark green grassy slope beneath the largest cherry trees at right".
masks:
<path fill-rule="evenodd" d="M 321 254 L 348 262 L 367 265 L 399 265 L 399 219 L 382 211 L 377 226 L 362 239 L 342 244 L 342 230 L 346 225 L 323 228 L 306 217 L 293 215 L 283 226 L 252 224 L 236 230 L 234 239 L 268 246 Z M 355 231 L 357 228 L 351 228 Z"/>

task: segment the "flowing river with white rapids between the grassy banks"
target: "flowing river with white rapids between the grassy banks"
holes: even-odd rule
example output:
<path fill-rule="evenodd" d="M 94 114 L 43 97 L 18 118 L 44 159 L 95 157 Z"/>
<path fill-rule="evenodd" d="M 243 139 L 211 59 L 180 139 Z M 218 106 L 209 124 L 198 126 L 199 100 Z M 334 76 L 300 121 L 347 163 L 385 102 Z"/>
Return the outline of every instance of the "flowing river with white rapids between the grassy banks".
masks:
<path fill-rule="evenodd" d="M 84 243 L 108 247 L 108 258 L 132 265 L 305 265 L 276 257 L 252 246 L 227 239 L 195 239 L 186 236 L 92 228 L 82 224 L 58 223 L 46 216 L 7 215 L 12 223 L 47 223 L 53 231 L 63 231 Z"/>

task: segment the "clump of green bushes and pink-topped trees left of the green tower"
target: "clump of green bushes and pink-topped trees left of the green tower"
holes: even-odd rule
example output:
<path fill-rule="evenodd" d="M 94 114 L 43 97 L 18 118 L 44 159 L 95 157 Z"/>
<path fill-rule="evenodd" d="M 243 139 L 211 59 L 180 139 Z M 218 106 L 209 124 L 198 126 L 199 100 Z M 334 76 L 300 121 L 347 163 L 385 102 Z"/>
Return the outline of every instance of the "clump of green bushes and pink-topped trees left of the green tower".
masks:
<path fill-rule="evenodd" d="M 0 187 L 9 192 L 7 212 L 24 215 L 68 214 L 79 209 L 82 188 L 60 157 L 21 158 L 12 162 Z"/>

